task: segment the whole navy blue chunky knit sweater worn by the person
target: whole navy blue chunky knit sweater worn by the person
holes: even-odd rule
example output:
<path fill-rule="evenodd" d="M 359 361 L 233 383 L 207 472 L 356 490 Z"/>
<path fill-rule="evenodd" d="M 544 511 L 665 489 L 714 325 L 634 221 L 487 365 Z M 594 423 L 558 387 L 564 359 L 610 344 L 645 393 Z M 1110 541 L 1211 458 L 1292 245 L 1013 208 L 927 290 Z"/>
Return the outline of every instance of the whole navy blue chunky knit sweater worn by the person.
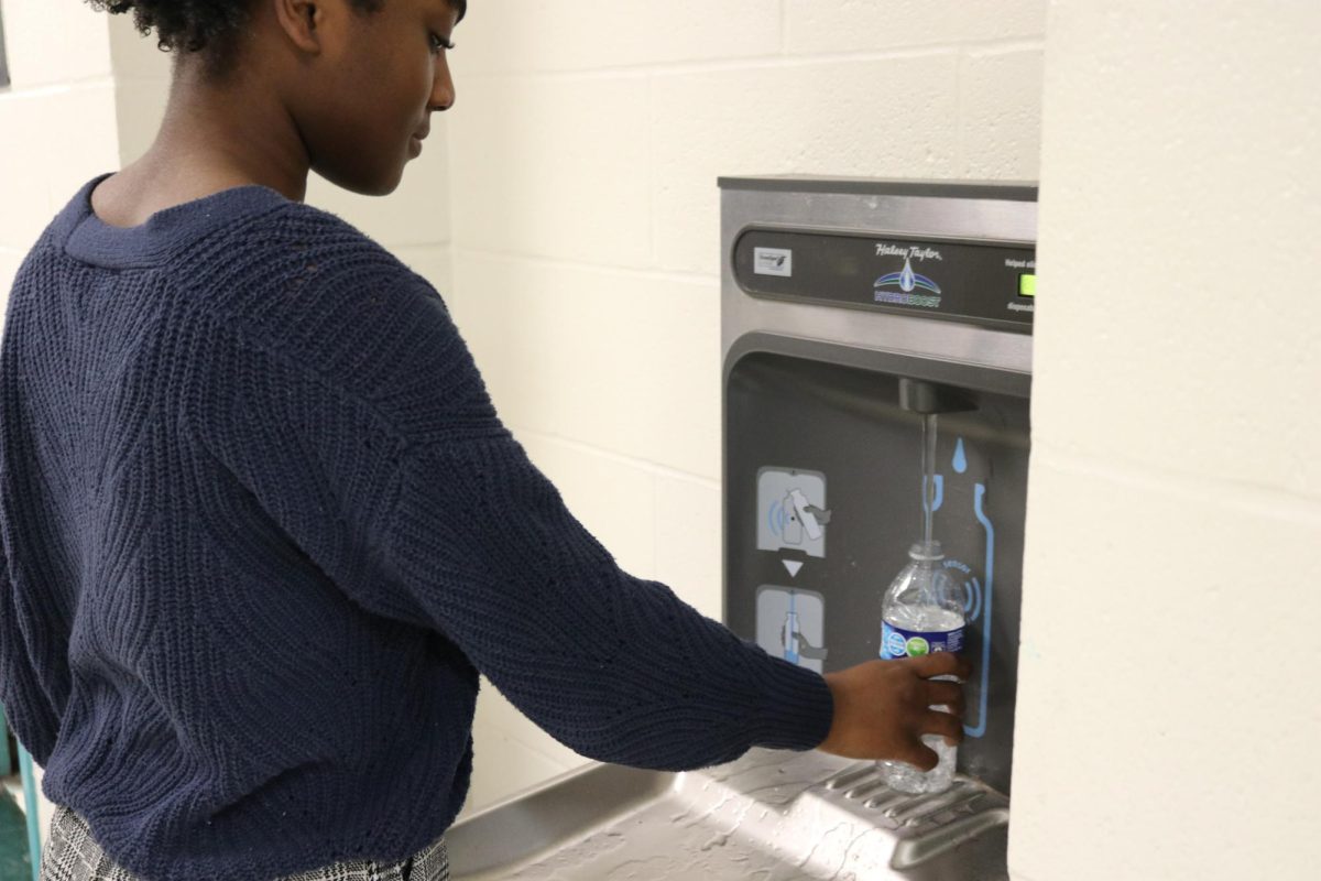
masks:
<path fill-rule="evenodd" d="M 263 186 L 111 227 L 100 180 L 7 309 L 0 699 L 116 861 L 403 859 L 464 803 L 478 671 L 606 762 L 826 737 L 822 676 L 569 514 L 425 280 Z"/>

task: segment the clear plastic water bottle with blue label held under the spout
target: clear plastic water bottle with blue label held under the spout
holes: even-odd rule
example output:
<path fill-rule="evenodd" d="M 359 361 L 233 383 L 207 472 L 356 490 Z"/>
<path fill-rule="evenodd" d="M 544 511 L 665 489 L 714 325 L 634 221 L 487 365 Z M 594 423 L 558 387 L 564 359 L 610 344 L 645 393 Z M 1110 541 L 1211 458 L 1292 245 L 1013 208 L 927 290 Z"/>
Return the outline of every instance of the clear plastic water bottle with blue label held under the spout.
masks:
<path fill-rule="evenodd" d="M 890 582 L 881 601 L 881 658 L 909 658 L 963 649 L 963 590 L 943 565 L 939 542 L 909 548 L 910 561 Z M 939 676 L 954 680 L 954 676 Z M 937 707 L 948 711 L 948 707 Z M 954 781 L 956 746 L 939 734 L 922 742 L 935 750 L 941 763 L 922 771 L 908 762 L 877 762 L 885 782 L 901 793 L 943 793 Z"/>

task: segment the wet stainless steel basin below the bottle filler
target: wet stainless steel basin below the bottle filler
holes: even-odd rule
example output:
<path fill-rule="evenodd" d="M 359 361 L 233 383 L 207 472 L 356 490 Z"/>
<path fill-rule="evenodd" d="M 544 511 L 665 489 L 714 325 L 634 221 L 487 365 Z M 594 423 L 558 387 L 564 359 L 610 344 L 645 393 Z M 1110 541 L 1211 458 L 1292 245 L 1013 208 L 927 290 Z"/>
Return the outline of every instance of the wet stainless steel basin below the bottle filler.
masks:
<path fill-rule="evenodd" d="M 1008 881 L 1008 823 L 976 781 L 911 796 L 872 762 L 752 749 L 680 774 L 572 771 L 445 837 L 454 881 Z"/>

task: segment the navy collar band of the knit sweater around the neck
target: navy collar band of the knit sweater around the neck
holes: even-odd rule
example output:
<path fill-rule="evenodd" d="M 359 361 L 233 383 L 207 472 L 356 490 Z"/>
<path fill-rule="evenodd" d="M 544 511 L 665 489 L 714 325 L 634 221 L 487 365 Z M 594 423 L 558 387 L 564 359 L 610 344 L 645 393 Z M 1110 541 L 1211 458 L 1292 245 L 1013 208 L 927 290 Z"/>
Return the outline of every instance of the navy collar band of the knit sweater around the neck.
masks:
<path fill-rule="evenodd" d="M 91 210 L 91 192 L 111 174 L 78 190 L 55 217 L 54 232 L 75 260 L 116 269 L 161 263 L 214 230 L 289 203 L 268 186 L 247 184 L 156 211 L 139 226 L 111 226 Z"/>

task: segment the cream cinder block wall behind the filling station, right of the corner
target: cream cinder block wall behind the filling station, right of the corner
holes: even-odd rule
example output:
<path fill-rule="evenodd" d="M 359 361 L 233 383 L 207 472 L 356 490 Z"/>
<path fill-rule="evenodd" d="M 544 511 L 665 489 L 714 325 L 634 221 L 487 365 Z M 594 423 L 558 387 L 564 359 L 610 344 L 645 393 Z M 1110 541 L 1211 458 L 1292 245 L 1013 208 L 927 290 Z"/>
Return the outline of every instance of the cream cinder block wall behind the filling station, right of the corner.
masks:
<path fill-rule="evenodd" d="M 634 575 L 720 616 L 721 174 L 1036 178 L 1044 0 L 481 0 L 449 301 Z M 486 684 L 468 811 L 583 763 Z"/>

